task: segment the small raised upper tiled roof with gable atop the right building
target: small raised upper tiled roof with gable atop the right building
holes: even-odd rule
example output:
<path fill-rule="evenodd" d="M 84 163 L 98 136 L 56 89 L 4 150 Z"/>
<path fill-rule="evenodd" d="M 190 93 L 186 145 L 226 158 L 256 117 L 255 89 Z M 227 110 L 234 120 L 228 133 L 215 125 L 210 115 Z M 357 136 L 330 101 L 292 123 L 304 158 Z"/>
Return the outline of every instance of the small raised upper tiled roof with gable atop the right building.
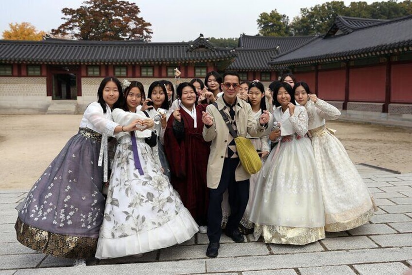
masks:
<path fill-rule="evenodd" d="M 386 21 L 388 20 L 337 16 L 332 27 L 326 33 L 326 37 L 336 34 L 350 34 L 354 30 Z"/>

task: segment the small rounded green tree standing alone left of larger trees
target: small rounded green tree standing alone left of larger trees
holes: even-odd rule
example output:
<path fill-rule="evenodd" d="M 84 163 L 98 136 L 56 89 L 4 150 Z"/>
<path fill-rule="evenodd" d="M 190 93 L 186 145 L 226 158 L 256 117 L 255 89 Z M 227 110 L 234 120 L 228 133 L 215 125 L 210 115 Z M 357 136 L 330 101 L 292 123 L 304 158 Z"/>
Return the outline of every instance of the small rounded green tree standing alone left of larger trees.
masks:
<path fill-rule="evenodd" d="M 276 10 L 261 13 L 257 18 L 257 29 L 261 36 L 286 37 L 290 35 L 289 17 Z"/>

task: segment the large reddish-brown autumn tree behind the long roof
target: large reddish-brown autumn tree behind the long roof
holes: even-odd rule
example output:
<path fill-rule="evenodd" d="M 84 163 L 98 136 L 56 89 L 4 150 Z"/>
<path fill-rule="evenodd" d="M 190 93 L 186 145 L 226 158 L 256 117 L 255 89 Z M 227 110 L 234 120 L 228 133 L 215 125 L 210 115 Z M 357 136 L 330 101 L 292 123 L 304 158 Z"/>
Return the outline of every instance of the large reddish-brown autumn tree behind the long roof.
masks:
<path fill-rule="evenodd" d="M 52 35 L 72 35 L 79 40 L 129 40 L 150 41 L 153 34 L 143 18 L 138 17 L 135 3 L 121 0 L 85 0 L 77 9 L 64 8 L 66 20 Z"/>

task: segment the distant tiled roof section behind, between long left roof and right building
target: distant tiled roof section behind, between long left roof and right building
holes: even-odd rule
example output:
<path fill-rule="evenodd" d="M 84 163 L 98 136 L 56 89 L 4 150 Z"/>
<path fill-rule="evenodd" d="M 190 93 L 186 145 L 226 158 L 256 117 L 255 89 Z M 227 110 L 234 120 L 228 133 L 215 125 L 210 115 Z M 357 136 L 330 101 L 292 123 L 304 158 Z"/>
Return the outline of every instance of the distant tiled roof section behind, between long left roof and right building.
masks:
<path fill-rule="evenodd" d="M 243 49 L 275 49 L 279 46 L 280 53 L 296 48 L 313 36 L 305 37 L 261 37 L 242 35 L 239 38 L 239 48 Z"/>

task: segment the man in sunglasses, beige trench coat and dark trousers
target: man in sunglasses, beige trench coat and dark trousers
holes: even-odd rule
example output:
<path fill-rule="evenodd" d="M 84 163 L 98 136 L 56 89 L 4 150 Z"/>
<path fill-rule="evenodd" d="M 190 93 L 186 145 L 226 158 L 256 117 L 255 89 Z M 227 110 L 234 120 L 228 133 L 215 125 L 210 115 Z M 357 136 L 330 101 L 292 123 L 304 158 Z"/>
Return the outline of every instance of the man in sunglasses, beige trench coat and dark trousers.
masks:
<path fill-rule="evenodd" d="M 268 111 L 257 121 L 250 105 L 239 99 L 237 93 L 240 88 L 238 73 L 226 72 L 221 84 L 223 96 L 216 100 L 217 107 L 209 105 L 203 112 L 203 137 L 211 141 L 210 155 L 207 165 L 207 187 L 209 188 L 209 208 L 207 213 L 207 236 L 209 245 L 206 256 L 217 257 L 219 241 L 222 235 L 222 200 L 226 189 L 229 192 L 231 215 L 226 225 L 226 235 L 236 242 L 244 241 L 238 225 L 246 209 L 249 199 L 249 178 L 242 167 L 237 155 L 235 141 L 229 128 L 223 120 L 220 110 L 223 110 L 229 122 L 239 136 L 262 136 L 268 125 L 272 124 L 272 115 Z M 266 133 L 267 134 L 267 133 Z"/>

